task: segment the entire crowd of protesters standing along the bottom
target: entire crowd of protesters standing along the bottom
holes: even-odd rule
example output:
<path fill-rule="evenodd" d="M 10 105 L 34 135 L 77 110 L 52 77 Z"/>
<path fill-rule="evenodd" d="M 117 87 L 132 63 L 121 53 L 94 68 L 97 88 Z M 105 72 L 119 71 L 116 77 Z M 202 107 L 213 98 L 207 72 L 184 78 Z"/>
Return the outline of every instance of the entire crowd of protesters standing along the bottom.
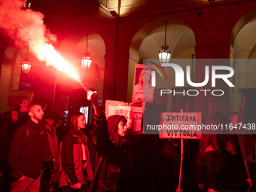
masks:
<path fill-rule="evenodd" d="M 232 191 L 253 187 L 235 134 L 222 130 L 184 141 L 181 187 L 181 139 L 130 135 L 122 115 L 106 118 L 98 96 L 89 92 L 93 123 L 74 112 L 69 126 L 56 112 L 32 102 L 28 115 L 2 114 L 0 191 Z M 255 123 L 256 118 L 248 119 Z M 207 124 L 239 123 L 239 114 L 214 113 Z M 145 122 L 144 122 L 145 123 Z"/>

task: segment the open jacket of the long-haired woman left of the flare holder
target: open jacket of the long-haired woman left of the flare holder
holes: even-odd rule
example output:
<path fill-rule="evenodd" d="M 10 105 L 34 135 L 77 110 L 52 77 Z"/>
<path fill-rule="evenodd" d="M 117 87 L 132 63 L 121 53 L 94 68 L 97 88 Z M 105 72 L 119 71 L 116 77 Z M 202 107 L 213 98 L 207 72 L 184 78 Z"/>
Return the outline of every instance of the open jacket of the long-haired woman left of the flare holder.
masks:
<path fill-rule="evenodd" d="M 86 139 L 85 139 L 86 141 Z M 85 184 L 84 168 L 87 167 L 89 180 L 93 177 L 90 164 L 90 156 L 87 145 L 85 146 L 86 162 L 83 164 L 83 148 L 81 138 L 69 130 L 62 137 L 59 145 L 59 187 L 69 186 L 76 183 Z"/>

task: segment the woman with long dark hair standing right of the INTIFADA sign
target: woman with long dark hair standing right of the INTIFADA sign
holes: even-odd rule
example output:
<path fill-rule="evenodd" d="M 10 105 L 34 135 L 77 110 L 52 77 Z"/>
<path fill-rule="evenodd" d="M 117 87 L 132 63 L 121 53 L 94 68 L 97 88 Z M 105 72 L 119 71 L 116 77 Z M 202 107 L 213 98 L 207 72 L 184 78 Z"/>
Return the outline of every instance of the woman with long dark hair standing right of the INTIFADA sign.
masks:
<path fill-rule="evenodd" d="M 207 125 L 229 124 L 230 119 L 221 113 L 212 114 Z M 241 177 L 241 167 L 237 165 L 236 145 L 233 136 L 224 130 L 207 130 L 200 142 L 197 172 L 201 173 L 200 186 L 204 191 L 244 191 L 251 187 L 250 178 Z M 203 179 L 204 178 L 204 179 Z"/>

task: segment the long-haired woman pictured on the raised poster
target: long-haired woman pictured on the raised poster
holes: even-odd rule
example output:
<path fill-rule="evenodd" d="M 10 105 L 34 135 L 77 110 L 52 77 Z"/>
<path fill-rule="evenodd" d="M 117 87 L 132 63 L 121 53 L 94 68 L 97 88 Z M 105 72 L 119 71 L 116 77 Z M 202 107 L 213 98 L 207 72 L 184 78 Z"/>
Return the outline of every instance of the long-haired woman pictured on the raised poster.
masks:
<path fill-rule="evenodd" d="M 133 101 L 153 102 L 154 87 L 151 86 L 151 80 L 151 69 L 143 69 L 138 84 L 134 86 Z"/>

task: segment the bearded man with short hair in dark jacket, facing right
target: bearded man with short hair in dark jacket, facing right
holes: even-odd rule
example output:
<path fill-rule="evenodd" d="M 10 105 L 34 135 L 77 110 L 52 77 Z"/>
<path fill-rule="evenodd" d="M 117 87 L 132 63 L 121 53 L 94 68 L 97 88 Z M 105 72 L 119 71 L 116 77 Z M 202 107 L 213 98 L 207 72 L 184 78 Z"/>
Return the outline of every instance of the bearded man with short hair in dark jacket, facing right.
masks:
<path fill-rule="evenodd" d="M 51 159 L 46 132 L 40 120 L 43 117 L 41 105 L 31 103 L 28 107 L 30 119 L 14 133 L 8 160 L 13 182 L 11 192 L 38 191 L 43 159 Z"/>

